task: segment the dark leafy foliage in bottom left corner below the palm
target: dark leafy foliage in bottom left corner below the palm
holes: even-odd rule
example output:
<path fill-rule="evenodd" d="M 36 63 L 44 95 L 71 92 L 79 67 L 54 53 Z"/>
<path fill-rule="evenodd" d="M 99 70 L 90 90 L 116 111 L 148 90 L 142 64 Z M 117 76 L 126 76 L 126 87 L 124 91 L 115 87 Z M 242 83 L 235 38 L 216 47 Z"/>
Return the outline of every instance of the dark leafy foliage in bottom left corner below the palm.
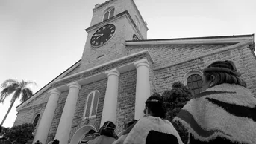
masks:
<path fill-rule="evenodd" d="M 0 133 L 0 143 L 16 143 L 16 144 L 28 144 L 34 138 L 34 125 L 22 124 L 13 126 L 12 128 L 2 128 Z"/>

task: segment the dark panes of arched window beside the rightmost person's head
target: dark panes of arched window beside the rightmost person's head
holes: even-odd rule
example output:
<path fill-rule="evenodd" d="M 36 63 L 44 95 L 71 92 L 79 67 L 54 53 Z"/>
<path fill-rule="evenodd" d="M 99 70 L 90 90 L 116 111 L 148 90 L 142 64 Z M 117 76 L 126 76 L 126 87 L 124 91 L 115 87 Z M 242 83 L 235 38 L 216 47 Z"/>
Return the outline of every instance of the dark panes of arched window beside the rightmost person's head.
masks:
<path fill-rule="evenodd" d="M 202 92 L 202 76 L 199 74 L 192 74 L 187 78 L 187 88 L 190 89 L 192 95 Z"/>

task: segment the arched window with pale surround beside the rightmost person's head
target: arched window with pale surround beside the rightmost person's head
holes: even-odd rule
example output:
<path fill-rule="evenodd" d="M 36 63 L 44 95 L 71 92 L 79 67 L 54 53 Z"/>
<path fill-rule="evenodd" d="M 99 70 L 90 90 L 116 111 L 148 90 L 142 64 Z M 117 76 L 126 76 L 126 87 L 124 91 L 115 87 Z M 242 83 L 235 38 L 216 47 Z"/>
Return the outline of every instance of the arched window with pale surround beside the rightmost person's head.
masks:
<path fill-rule="evenodd" d="M 194 96 L 202 92 L 202 73 L 199 71 L 190 71 L 184 76 L 184 83 Z"/>

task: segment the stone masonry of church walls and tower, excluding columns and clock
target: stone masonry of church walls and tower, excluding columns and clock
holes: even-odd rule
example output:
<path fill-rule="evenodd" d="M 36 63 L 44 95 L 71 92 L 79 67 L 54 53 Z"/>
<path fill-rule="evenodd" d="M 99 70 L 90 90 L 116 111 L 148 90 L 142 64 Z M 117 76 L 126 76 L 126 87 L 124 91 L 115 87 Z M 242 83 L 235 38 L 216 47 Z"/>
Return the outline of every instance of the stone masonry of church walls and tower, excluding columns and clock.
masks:
<path fill-rule="evenodd" d="M 115 8 L 114 16 L 102 22 L 104 12 L 110 7 Z M 134 25 L 136 17 L 140 22 L 140 30 Z M 147 39 L 147 27 L 143 23 L 144 20 L 140 16 L 137 7 L 134 6 L 133 0 L 110 0 L 100 5 L 98 8 L 93 9 L 93 18 L 90 23 L 90 28 L 87 29 L 88 36 L 84 45 L 80 65 L 66 74 L 66 76 L 70 76 L 69 78 L 49 85 L 51 88 L 43 91 L 42 94 L 20 108 L 13 125 L 32 123 L 37 114 L 40 114 L 41 120 L 49 99 L 49 90 L 80 79 L 86 79 L 89 76 L 104 73 L 114 68 L 119 68 L 122 65 L 131 64 L 140 59 L 149 60 L 149 55 L 143 53 L 102 67 L 94 68 L 105 62 L 110 62 L 143 50 L 148 50 L 153 60 L 153 62 L 149 60 L 150 94 L 154 92 L 163 94 L 163 91 L 172 88 L 173 82 L 184 82 L 184 76 L 187 72 L 202 72 L 207 65 L 217 60 L 232 60 L 237 65 L 237 70 L 242 73 L 242 78 L 246 81 L 247 88 L 256 96 L 256 56 L 254 51 L 252 51 L 254 45 L 247 44 L 246 42 L 212 45 L 127 45 L 128 43 L 126 43 L 126 41 L 131 40 L 133 34 L 137 34 L 140 39 Z M 90 39 L 93 33 L 105 24 L 114 24 L 116 26 L 116 32 L 104 45 L 100 47 L 91 46 Z M 87 71 L 90 68 L 94 69 Z M 81 71 L 85 72 L 76 74 L 75 76 L 73 75 Z M 120 73 L 117 99 L 118 106 L 116 108 L 116 134 L 123 131 L 123 125 L 125 125 L 126 122 L 134 119 L 136 82 L 136 69 Z M 69 131 L 69 143 L 75 132 L 85 125 L 91 125 L 99 130 L 106 88 L 107 78 L 91 82 L 87 85 L 81 85 L 75 114 L 72 119 L 72 126 Z M 87 123 L 87 121 L 84 120 L 87 96 L 90 92 L 96 90 L 99 91 L 99 103 L 96 117 L 90 118 L 89 123 Z M 46 143 L 54 140 L 68 93 L 69 91 L 61 92 L 57 101 L 57 108 L 52 110 L 54 111 L 54 117 L 51 122 L 51 128 Z"/>

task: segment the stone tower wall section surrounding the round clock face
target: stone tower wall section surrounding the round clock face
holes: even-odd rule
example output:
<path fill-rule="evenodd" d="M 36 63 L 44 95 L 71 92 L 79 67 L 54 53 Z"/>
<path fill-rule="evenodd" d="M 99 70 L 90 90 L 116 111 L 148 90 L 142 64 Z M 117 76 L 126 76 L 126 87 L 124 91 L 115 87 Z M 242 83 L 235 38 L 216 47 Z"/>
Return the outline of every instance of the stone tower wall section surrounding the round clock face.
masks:
<path fill-rule="evenodd" d="M 109 41 L 102 46 L 93 47 L 90 45 L 90 39 L 93 33 L 103 25 L 88 32 L 79 71 L 84 71 L 88 68 L 93 68 L 97 65 L 125 56 L 125 40 L 131 40 L 131 36 L 135 33 L 127 17 L 122 16 L 113 22 L 107 22 L 105 24 L 114 24 L 116 26 L 115 33 Z"/>

